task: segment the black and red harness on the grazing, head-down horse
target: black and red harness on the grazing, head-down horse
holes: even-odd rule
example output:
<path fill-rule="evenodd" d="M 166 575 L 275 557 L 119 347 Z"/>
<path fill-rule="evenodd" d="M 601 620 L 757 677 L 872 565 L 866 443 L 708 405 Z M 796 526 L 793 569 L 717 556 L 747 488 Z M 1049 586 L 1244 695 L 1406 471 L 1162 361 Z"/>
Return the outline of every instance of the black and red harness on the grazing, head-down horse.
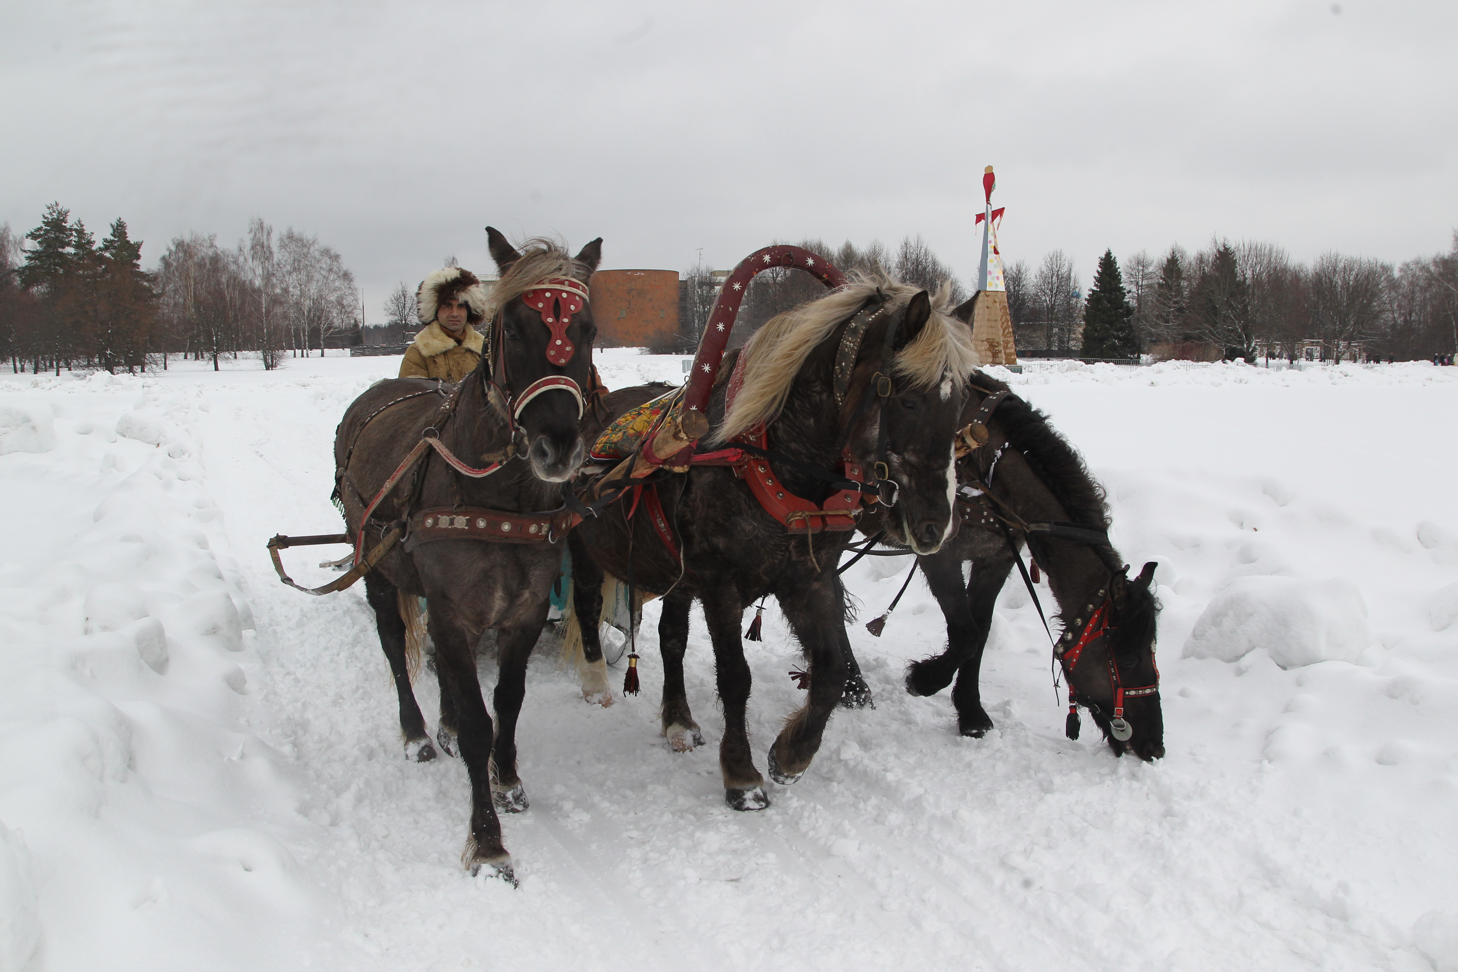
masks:
<path fill-rule="evenodd" d="M 958 439 L 958 456 L 967 456 L 981 449 L 987 444 L 990 434 L 987 430 L 987 421 L 991 418 L 993 411 L 997 405 L 1013 396 L 1010 389 L 999 389 L 996 392 L 989 392 L 989 389 L 972 386 L 987 396 L 983 399 L 977 412 L 974 412 L 971 423 L 964 427 Z M 965 449 L 964 449 L 965 446 Z M 1044 631 L 1048 631 L 1048 638 L 1053 641 L 1053 656 L 1063 669 L 1063 676 L 1069 686 L 1069 717 L 1066 720 L 1064 733 L 1069 739 L 1079 737 L 1079 713 L 1077 707 L 1102 713 L 1099 705 L 1092 699 L 1079 697 L 1073 689 L 1073 669 L 1077 667 L 1079 660 L 1083 657 L 1083 648 L 1086 648 L 1094 641 L 1110 635 L 1110 632 L 1117 631 L 1117 627 L 1111 624 L 1111 616 L 1114 611 L 1112 600 L 1112 586 L 1114 577 L 1120 573 L 1110 570 L 1108 583 L 1098 590 L 1095 597 L 1102 597 L 1102 603 L 1096 608 L 1094 603 L 1085 605 L 1085 611 L 1089 612 L 1088 619 L 1079 616 L 1073 619 L 1073 627 L 1063 632 L 1063 637 L 1053 638 L 1051 630 L 1048 630 L 1048 619 L 1042 612 L 1042 603 L 1038 600 L 1038 590 L 1034 586 L 1032 577 L 1028 573 L 1026 565 L 1022 563 L 1022 554 L 1018 551 L 1018 545 L 1013 542 L 1012 530 L 1021 530 L 1024 536 L 1031 544 L 1032 538 L 1037 536 L 1051 536 L 1056 539 L 1073 541 L 1076 544 L 1083 544 L 1092 548 L 1112 549 L 1108 541 L 1107 530 L 1096 530 L 1088 526 L 1080 526 L 1077 523 L 1061 523 L 1061 522 L 1047 522 L 1047 523 L 1028 523 L 1021 516 L 1018 516 L 1012 507 L 1009 507 L 1003 500 L 1000 500 L 990 490 L 993 472 L 997 468 L 997 459 L 1002 458 L 1002 450 L 1006 446 L 999 446 L 993 455 L 991 465 L 986 475 L 978 477 L 971 472 L 970 484 L 958 484 L 956 503 L 962 507 L 962 520 L 970 520 L 972 512 L 978 512 L 978 526 L 993 528 L 996 526 L 1003 533 L 1007 541 L 1009 549 L 1012 549 L 1013 557 L 1018 561 L 1018 573 L 1022 574 L 1022 583 L 1032 596 L 1032 603 L 1038 609 L 1038 618 L 1042 621 Z M 991 503 L 989 503 L 989 500 Z M 1002 507 L 994 510 L 991 504 Z M 1128 567 L 1126 565 L 1123 574 L 1127 576 Z M 1112 714 L 1110 717 L 1110 734 L 1120 742 L 1127 742 L 1134 730 L 1124 718 L 1124 699 L 1126 698 L 1149 698 L 1159 695 L 1159 666 L 1155 665 L 1155 681 L 1152 685 L 1140 685 L 1134 688 L 1124 686 L 1124 676 L 1120 672 L 1118 660 L 1114 657 L 1114 651 L 1108 651 L 1108 683 L 1110 691 L 1114 697 Z"/>

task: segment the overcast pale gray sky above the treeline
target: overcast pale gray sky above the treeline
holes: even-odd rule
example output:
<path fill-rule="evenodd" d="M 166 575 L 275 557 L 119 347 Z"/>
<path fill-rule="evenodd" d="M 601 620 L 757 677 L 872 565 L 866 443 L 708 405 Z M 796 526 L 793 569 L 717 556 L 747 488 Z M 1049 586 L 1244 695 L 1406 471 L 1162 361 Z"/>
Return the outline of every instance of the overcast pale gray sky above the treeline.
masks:
<path fill-rule="evenodd" d="M 921 233 L 1085 283 L 1212 235 L 1401 261 L 1458 227 L 1458 3 L 0 0 L 0 222 L 121 216 L 152 265 L 251 216 L 385 293 L 483 227 L 604 267 Z"/>

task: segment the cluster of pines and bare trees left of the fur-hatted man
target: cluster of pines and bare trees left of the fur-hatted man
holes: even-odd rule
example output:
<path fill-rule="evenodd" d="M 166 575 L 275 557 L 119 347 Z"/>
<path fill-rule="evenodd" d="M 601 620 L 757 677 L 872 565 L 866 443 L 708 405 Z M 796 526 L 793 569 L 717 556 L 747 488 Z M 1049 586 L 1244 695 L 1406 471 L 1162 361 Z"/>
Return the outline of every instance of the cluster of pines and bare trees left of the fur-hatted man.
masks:
<path fill-rule="evenodd" d="M 29 245 L 26 245 L 29 243 Z M 169 354 L 258 356 L 265 369 L 360 326 L 359 289 L 316 236 L 252 219 L 248 236 L 172 240 L 155 270 L 117 219 L 98 245 L 58 203 L 17 236 L 0 226 L 0 356 L 13 372 L 166 367 Z"/>

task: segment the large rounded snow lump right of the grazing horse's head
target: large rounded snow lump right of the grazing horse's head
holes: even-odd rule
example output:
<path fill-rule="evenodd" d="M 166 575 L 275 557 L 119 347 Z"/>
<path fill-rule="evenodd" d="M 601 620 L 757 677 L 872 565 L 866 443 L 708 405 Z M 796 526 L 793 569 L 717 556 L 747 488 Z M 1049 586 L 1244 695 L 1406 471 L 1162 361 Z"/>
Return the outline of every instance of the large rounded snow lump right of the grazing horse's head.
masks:
<path fill-rule="evenodd" d="M 1266 648 L 1283 669 L 1356 662 L 1372 644 L 1366 616 L 1362 592 L 1340 577 L 1236 577 L 1196 621 L 1184 657 L 1236 662 Z"/>

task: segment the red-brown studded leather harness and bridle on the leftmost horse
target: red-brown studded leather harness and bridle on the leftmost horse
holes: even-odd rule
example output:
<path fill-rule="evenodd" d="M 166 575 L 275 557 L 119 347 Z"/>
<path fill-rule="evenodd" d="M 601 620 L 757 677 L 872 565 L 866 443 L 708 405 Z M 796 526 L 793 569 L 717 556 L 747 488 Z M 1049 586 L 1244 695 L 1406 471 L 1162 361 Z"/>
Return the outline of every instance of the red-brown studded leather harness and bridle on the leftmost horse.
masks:
<path fill-rule="evenodd" d="M 535 286 L 529 287 L 522 294 L 522 300 L 528 305 L 528 307 L 541 313 L 542 324 L 547 325 L 547 329 L 551 332 L 551 338 L 547 345 L 547 360 L 558 367 L 567 364 L 574 353 L 574 347 L 567 338 L 567 326 L 572 322 L 572 315 L 586 306 L 588 289 L 577 280 L 553 277 L 538 281 Z M 369 555 L 364 554 L 364 539 L 367 535 L 366 528 L 370 522 L 370 516 L 375 513 L 375 509 L 394 491 L 405 474 L 410 472 L 423 458 L 426 458 L 430 450 L 434 450 L 434 453 L 439 455 L 446 465 L 461 475 L 481 479 L 493 472 L 497 472 L 515 456 L 523 455 L 526 433 L 521 426 L 521 415 L 522 409 L 525 409 L 532 399 L 553 391 L 567 392 L 576 399 L 577 418 L 582 418 L 585 409 L 582 388 L 566 375 L 548 375 L 531 382 L 519 393 L 512 391 L 510 376 L 506 369 L 506 329 L 502 321 L 503 315 L 504 307 L 497 310 L 490 325 L 493 334 L 487 337 L 487 369 L 481 375 L 481 382 L 484 385 L 487 402 L 491 404 L 512 431 L 510 443 L 497 452 L 484 453 L 481 458 L 487 460 L 487 465 L 475 468 L 462 462 L 440 440 L 440 430 L 451 421 L 451 417 L 455 414 L 456 405 L 461 401 L 461 391 L 465 388 L 465 382 L 461 382 L 461 385 L 451 391 L 446 401 L 442 402 L 430 424 L 421 430 L 420 440 L 416 446 L 405 455 L 389 478 L 385 479 L 383 485 L 381 485 L 381 488 L 375 493 L 373 498 L 367 501 L 364 513 L 360 517 L 359 532 L 354 536 L 350 536 L 348 533 L 332 533 L 324 536 L 290 538 L 280 533 L 268 541 L 268 552 L 273 558 L 274 570 L 283 583 L 297 590 L 303 590 L 305 593 L 328 595 L 337 590 L 344 590 L 373 570 L 375 565 L 378 565 L 379 561 L 382 561 L 401 539 L 405 539 L 407 549 L 414 549 L 420 544 L 443 539 L 478 539 L 497 544 L 555 544 L 566 536 L 567 530 L 580 522 L 580 516 L 569 512 L 567 504 L 563 504 L 555 510 L 535 513 L 493 510 L 488 507 L 469 507 L 464 504 L 432 507 L 411 513 L 410 503 L 407 503 L 405 514 L 392 523 L 382 525 L 379 530 L 379 544 L 370 549 Z M 491 377 L 496 375 L 497 361 L 500 361 L 502 369 L 500 383 Z M 467 380 L 469 380 L 469 376 Z M 354 446 L 359 443 L 359 437 L 363 434 L 364 428 L 376 417 L 394 405 L 411 398 L 420 398 L 421 395 L 436 393 L 445 395 L 443 386 L 439 382 L 433 389 L 414 392 L 386 402 L 364 418 L 359 430 L 354 433 L 354 440 L 346 450 L 344 466 L 340 469 L 338 481 L 335 482 L 337 498 L 340 482 L 348 479 L 348 459 L 353 458 Z M 592 393 L 596 396 L 596 389 L 592 389 Z M 417 471 L 414 488 L 416 494 L 418 494 L 423 482 L 424 477 Z M 364 498 L 359 488 L 354 487 L 353 481 L 350 481 L 350 487 L 354 490 L 356 495 L 362 500 Z M 353 544 L 353 565 L 343 577 L 338 577 L 332 583 L 324 584 L 322 587 L 303 587 L 302 584 L 295 583 L 295 580 L 284 571 L 278 551 L 289 546 L 308 546 L 316 544 Z"/>

